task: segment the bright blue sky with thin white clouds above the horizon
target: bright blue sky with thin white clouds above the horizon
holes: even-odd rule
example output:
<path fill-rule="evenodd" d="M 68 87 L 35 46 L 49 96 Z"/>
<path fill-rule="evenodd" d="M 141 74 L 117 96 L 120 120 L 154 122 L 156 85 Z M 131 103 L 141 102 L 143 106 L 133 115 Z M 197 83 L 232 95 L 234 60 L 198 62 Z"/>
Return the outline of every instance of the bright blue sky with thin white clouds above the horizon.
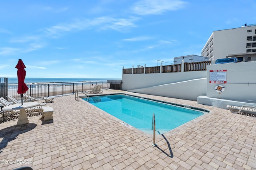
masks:
<path fill-rule="evenodd" d="M 255 9 L 255 0 L 1 1 L 0 77 L 16 77 L 22 59 L 31 78 L 122 78 L 123 66 L 201 55 L 213 31 L 256 23 Z"/>

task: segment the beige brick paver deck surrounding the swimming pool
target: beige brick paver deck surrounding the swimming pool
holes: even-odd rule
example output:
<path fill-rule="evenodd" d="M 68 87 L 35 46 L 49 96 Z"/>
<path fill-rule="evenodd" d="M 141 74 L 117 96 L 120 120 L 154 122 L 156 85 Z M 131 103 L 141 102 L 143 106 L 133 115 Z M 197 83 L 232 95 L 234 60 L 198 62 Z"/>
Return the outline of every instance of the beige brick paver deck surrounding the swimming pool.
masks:
<path fill-rule="evenodd" d="M 104 90 L 103 94 L 123 92 Z M 195 101 L 134 94 L 211 111 L 164 135 L 122 125 L 120 119 L 74 95 L 54 99 L 54 120 L 41 116 L 0 123 L 0 169 L 162 170 L 256 169 L 256 117 Z M 170 122 L 171 123 L 171 122 Z"/>

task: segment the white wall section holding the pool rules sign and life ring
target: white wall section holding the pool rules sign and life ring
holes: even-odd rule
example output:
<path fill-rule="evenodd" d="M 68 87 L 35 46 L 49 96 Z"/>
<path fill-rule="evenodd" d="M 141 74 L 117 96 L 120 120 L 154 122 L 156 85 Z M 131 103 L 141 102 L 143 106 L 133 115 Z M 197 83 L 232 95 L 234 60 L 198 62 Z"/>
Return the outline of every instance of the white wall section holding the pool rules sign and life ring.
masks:
<path fill-rule="evenodd" d="M 207 65 L 207 92 L 209 98 L 256 101 L 256 61 Z M 225 90 L 219 95 L 217 84 L 210 83 L 210 70 L 227 70 Z"/>

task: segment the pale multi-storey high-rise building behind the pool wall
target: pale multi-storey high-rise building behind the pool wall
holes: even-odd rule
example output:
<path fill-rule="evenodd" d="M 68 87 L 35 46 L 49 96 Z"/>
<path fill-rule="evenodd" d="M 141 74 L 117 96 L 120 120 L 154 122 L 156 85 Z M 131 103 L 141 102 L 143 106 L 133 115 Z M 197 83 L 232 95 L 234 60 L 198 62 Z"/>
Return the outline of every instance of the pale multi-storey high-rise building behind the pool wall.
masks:
<path fill-rule="evenodd" d="M 213 31 L 201 55 L 210 60 L 236 57 L 240 61 L 256 61 L 256 24 Z"/>

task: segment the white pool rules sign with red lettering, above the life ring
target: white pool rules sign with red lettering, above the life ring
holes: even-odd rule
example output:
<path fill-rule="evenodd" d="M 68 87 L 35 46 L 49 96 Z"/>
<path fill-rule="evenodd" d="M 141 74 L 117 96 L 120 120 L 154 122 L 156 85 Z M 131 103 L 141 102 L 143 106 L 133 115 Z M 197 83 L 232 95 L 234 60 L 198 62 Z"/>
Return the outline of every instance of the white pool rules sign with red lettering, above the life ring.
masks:
<path fill-rule="evenodd" d="M 227 83 L 227 70 L 210 70 L 210 83 Z"/>

